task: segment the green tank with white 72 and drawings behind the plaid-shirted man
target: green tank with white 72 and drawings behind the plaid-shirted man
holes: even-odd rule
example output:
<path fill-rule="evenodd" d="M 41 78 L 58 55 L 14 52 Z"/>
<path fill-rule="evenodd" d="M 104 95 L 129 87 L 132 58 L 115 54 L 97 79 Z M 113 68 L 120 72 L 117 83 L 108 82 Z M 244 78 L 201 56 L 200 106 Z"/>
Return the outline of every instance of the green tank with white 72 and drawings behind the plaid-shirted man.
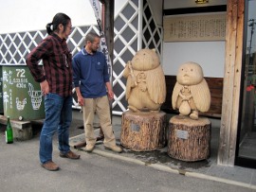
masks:
<path fill-rule="evenodd" d="M 5 116 L 19 120 L 45 118 L 40 84 L 33 79 L 26 65 L 4 65 L 2 78 Z"/>

